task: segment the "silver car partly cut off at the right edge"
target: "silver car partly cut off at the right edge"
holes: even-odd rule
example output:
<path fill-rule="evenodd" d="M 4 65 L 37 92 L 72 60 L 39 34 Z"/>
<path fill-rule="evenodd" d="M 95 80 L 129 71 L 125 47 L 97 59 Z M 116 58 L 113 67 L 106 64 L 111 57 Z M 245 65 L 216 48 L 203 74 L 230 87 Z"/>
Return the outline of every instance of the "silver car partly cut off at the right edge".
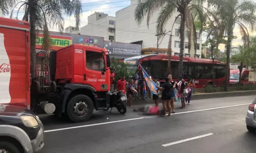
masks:
<path fill-rule="evenodd" d="M 249 132 L 256 132 L 256 99 L 253 100 L 252 104 L 249 105 L 246 118 L 246 127 Z"/>

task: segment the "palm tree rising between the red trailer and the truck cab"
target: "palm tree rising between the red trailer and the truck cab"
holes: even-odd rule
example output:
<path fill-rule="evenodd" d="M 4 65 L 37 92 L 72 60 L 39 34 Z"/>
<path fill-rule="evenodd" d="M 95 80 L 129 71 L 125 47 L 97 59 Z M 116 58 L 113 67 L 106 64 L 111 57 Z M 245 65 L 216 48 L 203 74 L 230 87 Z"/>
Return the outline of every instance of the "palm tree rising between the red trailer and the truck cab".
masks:
<path fill-rule="evenodd" d="M 16 16 L 14 16 L 14 8 L 17 8 Z M 23 20 L 30 22 L 30 54 L 31 54 L 31 78 L 35 79 L 35 55 L 36 55 L 36 34 L 38 30 L 44 33 L 42 49 L 49 51 L 52 40 L 49 35 L 50 27 L 57 27 L 63 32 L 64 18 L 63 15 L 74 15 L 76 19 L 76 27 L 80 24 L 80 14 L 82 12 L 80 0 L 2 0 L 0 1 L 0 10 L 4 15 L 11 14 L 10 17 L 17 18 L 19 10 L 23 8 L 25 14 Z M 12 9 L 9 12 L 9 9 Z"/>

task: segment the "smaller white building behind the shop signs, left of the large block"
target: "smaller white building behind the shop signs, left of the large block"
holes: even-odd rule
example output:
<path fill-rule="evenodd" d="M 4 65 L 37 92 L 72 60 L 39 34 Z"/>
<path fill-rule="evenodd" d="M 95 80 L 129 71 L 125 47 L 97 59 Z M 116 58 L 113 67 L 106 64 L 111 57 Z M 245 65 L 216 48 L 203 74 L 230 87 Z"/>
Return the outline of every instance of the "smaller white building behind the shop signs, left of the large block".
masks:
<path fill-rule="evenodd" d="M 95 12 L 88 16 L 88 24 L 80 29 L 80 34 L 104 37 L 104 40 L 115 41 L 115 17 Z"/>

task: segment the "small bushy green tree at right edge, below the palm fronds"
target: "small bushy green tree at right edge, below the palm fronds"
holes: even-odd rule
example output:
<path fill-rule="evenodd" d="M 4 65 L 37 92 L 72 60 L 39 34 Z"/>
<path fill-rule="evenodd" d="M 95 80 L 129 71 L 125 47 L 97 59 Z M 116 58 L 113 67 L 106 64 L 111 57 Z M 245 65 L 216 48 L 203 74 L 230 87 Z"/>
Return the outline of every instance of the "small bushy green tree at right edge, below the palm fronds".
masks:
<path fill-rule="evenodd" d="M 231 57 L 231 62 L 240 63 L 239 66 L 239 83 L 241 82 L 241 74 L 243 70 L 243 65 L 251 65 L 254 60 L 254 50 L 255 48 L 246 48 L 245 46 L 239 46 L 238 52 L 234 53 Z"/>

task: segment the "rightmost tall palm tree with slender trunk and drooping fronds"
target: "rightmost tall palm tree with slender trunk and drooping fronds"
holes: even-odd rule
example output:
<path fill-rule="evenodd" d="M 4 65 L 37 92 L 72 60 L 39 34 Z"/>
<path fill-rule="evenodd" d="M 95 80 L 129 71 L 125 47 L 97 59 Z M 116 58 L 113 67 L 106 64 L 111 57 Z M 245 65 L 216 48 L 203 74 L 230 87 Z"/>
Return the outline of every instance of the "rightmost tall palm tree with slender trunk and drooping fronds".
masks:
<path fill-rule="evenodd" d="M 249 26 L 251 31 L 253 31 L 255 28 L 256 3 L 254 3 L 252 0 L 208 0 L 208 5 L 214 8 L 216 16 L 218 16 L 221 23 L 225 25 L 225 31 L 227 34 L 227 66 L 224 89 L 227 91 L 230 47 L 231 41 L 234 38 L 233 29 L 236 24 L 239 26 L 244 45 L 249 46 L 249 31 L 246 26 Z"/>

